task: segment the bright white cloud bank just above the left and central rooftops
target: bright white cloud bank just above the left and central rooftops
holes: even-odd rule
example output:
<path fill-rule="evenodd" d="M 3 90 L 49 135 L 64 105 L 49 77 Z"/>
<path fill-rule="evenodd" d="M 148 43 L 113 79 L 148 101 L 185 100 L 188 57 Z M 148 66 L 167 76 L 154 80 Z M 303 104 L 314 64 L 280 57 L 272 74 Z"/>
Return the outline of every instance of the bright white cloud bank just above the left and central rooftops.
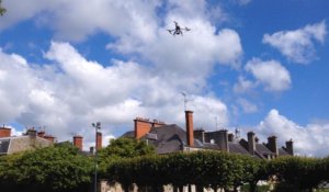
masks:
<path fill-rule="evenodd" d="M 102 66 L 82 57 L 70 44 L 52 42 L 45 58 L 50 64 L 32 65 L 22 56 L 0 52 L 1 122 L 46 126 L 59 140 L 70 133 L 94 140 L 91 123 L 103 124 L 103 135 L 122 134 L 133 128 L 133 118 L 145 116 L 178 123 L 184 127 L 183 98 L 190 83 L 157 72 L 133 61 L 112 60 Z M 182 77 L 183 82 L 188 82 Z M 212 126 L 209 110 L 228 122 L 227 109 L 219 99 L 191 89 L 191 110 L 197 126 Z M 193 104 L 192 104 L 193 103 Z"/>

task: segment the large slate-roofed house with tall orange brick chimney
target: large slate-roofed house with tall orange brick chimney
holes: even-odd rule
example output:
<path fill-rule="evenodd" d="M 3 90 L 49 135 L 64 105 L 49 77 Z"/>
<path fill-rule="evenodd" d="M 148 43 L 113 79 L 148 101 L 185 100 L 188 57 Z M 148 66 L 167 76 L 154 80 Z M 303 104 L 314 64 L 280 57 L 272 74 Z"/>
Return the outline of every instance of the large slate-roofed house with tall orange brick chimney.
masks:
<path fill-rule="evenodd" d="M 273 159 L 279 156 L 293 156 L 293 142 L 286 146 L 277 147 L 277 137 L 270 136 L 268 143 L 260 144 L 256 134 L 249 132 L 248 139 L 239 139 L 227 129 L 205 132 L 194 129 L 193 112 L 185 111 L 185 129 L 175 124 L 166 124 L 157 120 L 136 117 L 134 131 L 125 133 L 122 137 L 145 139 L 155 146 L 158 154 L 194 150 L 222 150 L 232 154 L 254 156 L 261 159 Z"/>

